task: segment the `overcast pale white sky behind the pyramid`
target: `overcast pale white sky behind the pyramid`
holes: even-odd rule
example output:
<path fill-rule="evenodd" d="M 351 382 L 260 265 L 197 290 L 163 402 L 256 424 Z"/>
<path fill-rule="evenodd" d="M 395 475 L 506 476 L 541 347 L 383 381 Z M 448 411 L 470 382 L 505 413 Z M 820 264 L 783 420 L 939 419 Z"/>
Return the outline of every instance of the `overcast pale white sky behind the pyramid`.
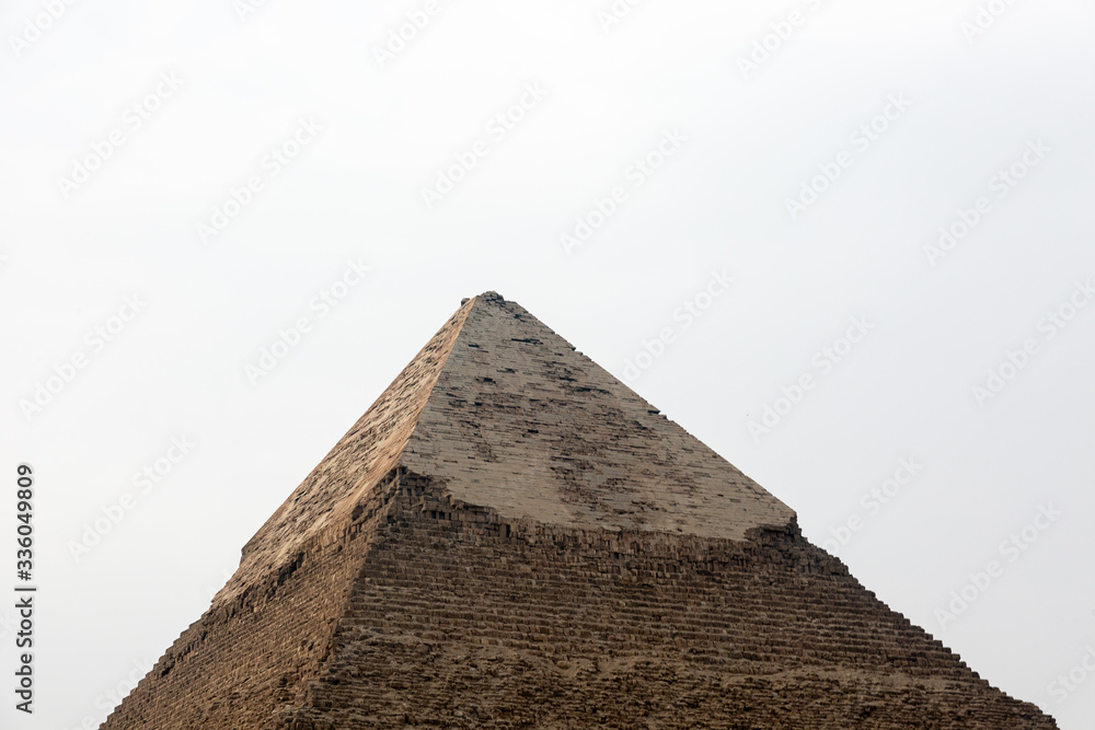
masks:
<path fill-rule="evenodd" d="M 493 289 L 1091 727 L 1091 2 L 244 2 L 0 5 L 0 590 L 23 462 L 41 587 L 0 725 L 95 727 Z"/>

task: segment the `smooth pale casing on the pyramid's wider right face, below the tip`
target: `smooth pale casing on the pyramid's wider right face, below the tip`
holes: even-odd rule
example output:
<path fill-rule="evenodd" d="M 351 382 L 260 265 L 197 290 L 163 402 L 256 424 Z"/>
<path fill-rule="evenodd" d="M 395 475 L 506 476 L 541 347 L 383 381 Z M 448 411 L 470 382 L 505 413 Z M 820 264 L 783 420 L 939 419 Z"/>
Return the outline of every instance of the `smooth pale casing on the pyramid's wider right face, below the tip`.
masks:
<path fill-rule="evenodd" d="M 517 302 L 496 291 L 469 302 L 400 455 L 408 472 L 502 519 L 561 528 L 744 540 L 794 522 Z"/>

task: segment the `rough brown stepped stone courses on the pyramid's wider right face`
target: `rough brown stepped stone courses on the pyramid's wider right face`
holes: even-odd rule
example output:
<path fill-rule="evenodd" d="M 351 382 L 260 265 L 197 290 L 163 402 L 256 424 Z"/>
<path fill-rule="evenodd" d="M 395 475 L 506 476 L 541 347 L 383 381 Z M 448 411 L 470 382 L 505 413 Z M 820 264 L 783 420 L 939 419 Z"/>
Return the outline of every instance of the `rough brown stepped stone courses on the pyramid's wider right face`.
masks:
<path fill-rule="evenodd" d="M 1056 727 L 796 526 L 610 534 L 434 493 L 404 476 L 285 728 Z"/>

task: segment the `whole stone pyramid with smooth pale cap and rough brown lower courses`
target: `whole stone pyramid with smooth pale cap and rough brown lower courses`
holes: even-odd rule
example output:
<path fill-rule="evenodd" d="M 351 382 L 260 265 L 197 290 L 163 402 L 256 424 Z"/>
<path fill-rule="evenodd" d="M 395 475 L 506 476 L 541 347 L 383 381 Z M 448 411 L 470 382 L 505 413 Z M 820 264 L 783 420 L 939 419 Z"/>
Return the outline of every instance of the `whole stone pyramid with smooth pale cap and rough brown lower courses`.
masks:
<path fill-rule="evenodd" d="M 102 727 L 1057 726 L 487 292 L 258 530 Z"/>

